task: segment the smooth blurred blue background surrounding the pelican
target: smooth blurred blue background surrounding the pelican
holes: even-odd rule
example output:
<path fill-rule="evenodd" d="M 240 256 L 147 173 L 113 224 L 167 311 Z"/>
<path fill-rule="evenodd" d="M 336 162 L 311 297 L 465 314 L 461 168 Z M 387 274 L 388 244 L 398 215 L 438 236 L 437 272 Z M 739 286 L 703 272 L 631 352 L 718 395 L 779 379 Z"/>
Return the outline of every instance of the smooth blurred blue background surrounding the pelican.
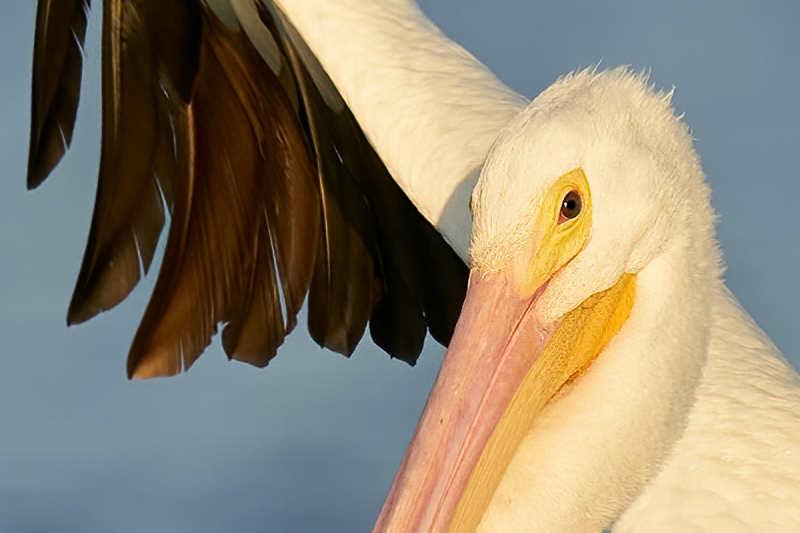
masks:
<path fill-rule="evenodd" d="M 99 2 L 97 2 L 99 4 Z M 727 280 L 800 366 L 800 4 L 427 0 L 442 29 L 535 96 L 602 60 L 675 86 L 714 190 Z M 98 167 L 99 13 L 73 148 L 25 191 L 33 0 L 0 18 L 0 531 L 354 532 L 379 510 L 441 360 L 304 328 L 265 371 L 215 343 L 188 374 L 128 382 L 153 287 L 67 329 Z"/>

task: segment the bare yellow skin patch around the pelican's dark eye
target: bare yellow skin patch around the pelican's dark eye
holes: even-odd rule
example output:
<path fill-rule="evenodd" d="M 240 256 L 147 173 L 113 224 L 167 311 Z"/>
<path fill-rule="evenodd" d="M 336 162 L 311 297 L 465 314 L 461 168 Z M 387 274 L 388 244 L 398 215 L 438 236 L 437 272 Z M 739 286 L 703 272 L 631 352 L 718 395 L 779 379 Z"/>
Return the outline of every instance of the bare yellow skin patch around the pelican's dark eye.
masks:
<path fill-rule="evenodd" d="M 558 223 L 561 203 L 568 192 L 580 193 L 583 208 L 573 219 Z M 518 290 L 532 295 L 555 272 L 581 251 L 592 228 L 592 196 L 583 169 L 578 167 L 559 177 L 541 201 L 534 226 L 534 249 L 516 265 Z"/>

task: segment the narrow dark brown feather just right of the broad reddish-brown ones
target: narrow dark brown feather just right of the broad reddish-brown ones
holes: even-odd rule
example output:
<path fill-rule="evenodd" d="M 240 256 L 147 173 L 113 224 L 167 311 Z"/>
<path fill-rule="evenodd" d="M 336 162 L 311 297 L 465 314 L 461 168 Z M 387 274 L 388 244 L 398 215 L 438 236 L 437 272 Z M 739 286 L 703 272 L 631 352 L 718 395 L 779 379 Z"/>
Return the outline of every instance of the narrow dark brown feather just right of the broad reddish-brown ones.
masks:
<path fill-rule="evenodd" d="M 300 58 L 310 52 L 297 50 L 305 44 L 285 21 L 274 20 L 265 10 L 261 17 L 283 37 L 280 46 L 297 80 L 317 161 L 322 231 L 309 292 L 308 329 L 320 346 L 350 355 L 383 297 L 374 213 L 337 151 L 337 135 L 347 132 L 340 131 L 341 124 L 329 122 L 337 115 L 323 100 Z M 330 88 L 335 91 L 332 84 Z"/>

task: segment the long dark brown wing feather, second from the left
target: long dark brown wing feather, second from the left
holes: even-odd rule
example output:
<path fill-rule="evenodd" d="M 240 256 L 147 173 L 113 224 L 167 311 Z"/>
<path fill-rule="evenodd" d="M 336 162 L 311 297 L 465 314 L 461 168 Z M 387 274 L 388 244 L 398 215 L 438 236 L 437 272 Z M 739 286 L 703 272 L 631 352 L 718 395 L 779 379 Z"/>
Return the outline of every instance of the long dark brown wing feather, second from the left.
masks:
<path fill-rule="evenodd" d="M 100 176 L 70 324 L 117 305 L 150 267 L 172 204 L 172 116 L 199 54 L 194 1 L 105 0 L 104 11 Z"/>

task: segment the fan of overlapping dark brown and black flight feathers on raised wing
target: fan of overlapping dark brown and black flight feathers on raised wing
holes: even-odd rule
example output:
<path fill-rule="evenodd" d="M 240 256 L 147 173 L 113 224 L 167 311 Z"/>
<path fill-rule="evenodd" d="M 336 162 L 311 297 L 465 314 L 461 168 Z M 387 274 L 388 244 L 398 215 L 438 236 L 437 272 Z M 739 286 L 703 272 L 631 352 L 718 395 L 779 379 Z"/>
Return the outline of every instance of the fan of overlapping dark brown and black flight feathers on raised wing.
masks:
<path fill-rule="evenodd" d="M 169 210 L 132 376 L 188 368 L 219 324 L 229 357 L 264 366 L 307 294 L 312 336 L 340 353 L 352 352 L 368 320 L 376 342 L 409 363 L 428 327 L 449 341 L 466 267 L 277 10 L 259 13 L 270 32 L 261 42 L 277 45 L 267 57 L 194 0 L 106 0 L 104 9 L 101 168 L 70 323 L 127 296 Z M 34 77 L 34 91 L 58 93 Z M 43 165 L 33 143 L 31 154 L 32 168 Z"/>

